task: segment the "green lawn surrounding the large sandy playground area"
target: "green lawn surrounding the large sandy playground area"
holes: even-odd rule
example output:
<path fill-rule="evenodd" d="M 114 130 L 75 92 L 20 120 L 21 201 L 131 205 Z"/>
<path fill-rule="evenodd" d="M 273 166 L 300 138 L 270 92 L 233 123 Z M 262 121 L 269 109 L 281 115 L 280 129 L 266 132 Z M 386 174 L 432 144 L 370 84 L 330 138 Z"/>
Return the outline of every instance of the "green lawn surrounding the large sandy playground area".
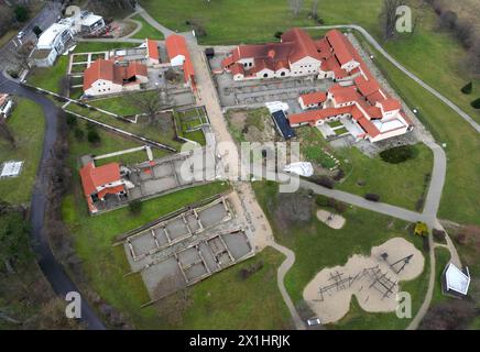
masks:
<path fill-rule="evenodd" d="M 405 238 L 423 250 L 422 239 L 410 234 L 406 230 L 407 222 L 359 208 L 350 207 L 347 210 L 345 213 L 347 222 L 340 230 L 326 227 L 315 216 L 306 223 L 280 229 L 274 215 L 277 185 L 259 182 L 253 184 L 253 189 L 272 224 L 276 241 L 295 252 L 295 264 L 285 278 L 286 288 L 295 304 L 301 302 L 303 289 L 319 271 L 343 265 L 352 254 L 369 255 L 372 246 L 380 245 L 391 238 Z M 421 276 L 413 282 L 401 284 L 401 288 L 412 295 L 413 315 L 421 306 L 427 287 L 429 267 L 427 253 L 424 253 L 424 256 L 425 268 Z M 410 319 L 396 319 L 395 314 L 371 315 L 353 309 L 350 315 L 331 328 L 404 329 L 410 322 Z"/>

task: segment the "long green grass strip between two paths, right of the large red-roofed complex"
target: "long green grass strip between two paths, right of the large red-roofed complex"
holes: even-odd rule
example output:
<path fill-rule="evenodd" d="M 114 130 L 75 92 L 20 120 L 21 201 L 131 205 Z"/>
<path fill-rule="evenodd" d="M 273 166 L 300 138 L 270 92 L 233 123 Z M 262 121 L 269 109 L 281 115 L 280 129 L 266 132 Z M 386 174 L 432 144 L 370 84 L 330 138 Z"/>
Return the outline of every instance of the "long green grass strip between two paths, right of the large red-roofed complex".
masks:
<path fill-rule="evenodd" d="M 477 153 L 480 148 L 480 136 L 450 108 L 381 57 L 364 43 L 360 35 L 357 37 L 375 54 L 375 64 L 405 102 L 411 108 L 418 108 L 418 118 L 434 134 L 437 142 L 447 144 L 445 152 L 448 157 L 448 168 L 439 218 L 460 223 L 480 224 L 478 216 L 480 160 Z M 428 66 L 423 65 L 423 67 L 427 69 Z"/>

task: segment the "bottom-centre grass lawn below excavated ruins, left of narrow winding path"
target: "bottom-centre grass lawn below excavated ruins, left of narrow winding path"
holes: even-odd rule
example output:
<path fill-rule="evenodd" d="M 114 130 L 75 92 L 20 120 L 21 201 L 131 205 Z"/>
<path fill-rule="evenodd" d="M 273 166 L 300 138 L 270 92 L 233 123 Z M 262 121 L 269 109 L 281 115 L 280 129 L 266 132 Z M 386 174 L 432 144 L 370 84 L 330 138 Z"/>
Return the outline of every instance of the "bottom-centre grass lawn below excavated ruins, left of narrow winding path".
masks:
<path fill-rule="evenodd" d="M 214 275 L 192 289 L 193 305 L 182 329 L 290 329 L 290 312 L 276 287 L 284 256 L 266 248 L 255 257 Z M 241 279 L 241 267 L 262 261 L 263 267 Z"/>

